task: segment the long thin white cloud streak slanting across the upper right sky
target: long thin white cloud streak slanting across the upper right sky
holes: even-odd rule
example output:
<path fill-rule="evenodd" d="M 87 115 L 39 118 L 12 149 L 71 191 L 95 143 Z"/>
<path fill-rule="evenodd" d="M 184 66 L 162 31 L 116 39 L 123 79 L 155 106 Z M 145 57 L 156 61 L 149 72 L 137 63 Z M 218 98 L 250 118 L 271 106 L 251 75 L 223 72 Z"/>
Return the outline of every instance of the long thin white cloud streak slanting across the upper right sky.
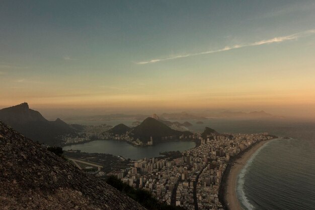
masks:
<path fill-rule="evenodd" d="M 140 61 L 140 62 L 136 62 L 136 64 L 155 63 L 155 62 L 160 62 L 160 61 L 165 61 L 165 60 L 174 60 L 174 59 L 184 58 L 184 57 L 191 57 L 191 56 L 211 54 L 211 53 L 216 53 L 216 52 L 223 52 L 223 51 L 228 51 L 228 50 L 238 49 L 238 48 L 243 48 L 243 47 L 259 46 L 259 45 L 271 44 L 271 43 L 279 43 L 279 42 L 284 42 L 284 41 L 288 41 L 288 40 L 298 39 L 298 38 L 305 37 L 305 36 L 312 35 L 312 34 L 315 34 L 315 29 L 291 34 L 288 36 L 280 36 L 280 37 L 274 37 L 272 39 L 260 40 L 260 41 L 256 41 L 253 43 L 225 46 L 224 48 L 217 49 L 217 50 L 208 50 L 208 51 L 204 51 L 204 52 L 188 53 L 188 54 L 175 55 L 175 56 L 172 55 L 172 56 L 160 58 L 160 59 L 151 59 L 151 60 L 147 60 L 147 61 Z"/>

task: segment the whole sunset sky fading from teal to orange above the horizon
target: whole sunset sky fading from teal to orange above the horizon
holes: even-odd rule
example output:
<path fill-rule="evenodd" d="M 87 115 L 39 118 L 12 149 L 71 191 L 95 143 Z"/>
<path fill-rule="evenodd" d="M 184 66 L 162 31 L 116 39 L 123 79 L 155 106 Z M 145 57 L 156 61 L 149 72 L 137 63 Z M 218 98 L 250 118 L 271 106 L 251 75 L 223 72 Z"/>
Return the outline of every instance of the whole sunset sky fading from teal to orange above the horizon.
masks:
<path fill-rule="evenodd" d="M 314 1 L 2 1 L 0 108 L 315 117 Z"/>

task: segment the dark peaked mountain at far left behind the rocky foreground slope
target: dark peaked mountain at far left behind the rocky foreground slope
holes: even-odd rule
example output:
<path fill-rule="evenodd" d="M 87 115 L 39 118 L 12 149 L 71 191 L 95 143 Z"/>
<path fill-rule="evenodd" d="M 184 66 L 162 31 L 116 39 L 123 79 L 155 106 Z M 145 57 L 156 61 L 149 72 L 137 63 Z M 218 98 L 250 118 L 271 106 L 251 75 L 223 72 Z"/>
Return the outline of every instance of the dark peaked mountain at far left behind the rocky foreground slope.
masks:
<path fill-rule="evenodd" d="M 34 141 L 51 146 L 60 145 L 58 136 L 76 131 L 59 118 L 48 121 L 38 111 L 30 109 L 27 103 L 1 109 L 0 121 Z"/>

